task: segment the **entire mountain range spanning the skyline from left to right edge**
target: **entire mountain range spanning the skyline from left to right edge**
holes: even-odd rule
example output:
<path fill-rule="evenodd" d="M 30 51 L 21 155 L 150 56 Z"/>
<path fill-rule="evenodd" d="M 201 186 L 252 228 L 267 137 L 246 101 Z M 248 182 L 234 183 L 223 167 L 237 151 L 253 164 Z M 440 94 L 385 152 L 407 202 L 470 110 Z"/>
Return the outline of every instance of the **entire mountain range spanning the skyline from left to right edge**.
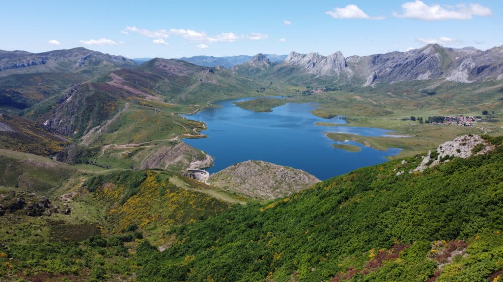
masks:
<path fill-rule="evenodd" d="M 232 64 L 248 59 L 191 60 L 204 62 L 208 58 Z M 329 56 L 291 52 L 282 62 L 277 59 L 258 54 L 227 69 L 159 58 L 136 65 L 125 57 L 85 48 L 39 54 L 1 51 L 0 110 L 22 114 L 59 134 L 84 136 L 120 114 L 120 107 L 131 99 L 197 104 L 201 99 L 253 96 L 255 91 L 266 89 L 266 84 L 277 82 L 374 87 L 418 81 L 423 88 L 434 89 L 442 82 L 494 83 L 503 79 L 502 46 L 480 51 L 430 44 L 407 52 L 347 58 L 341 52 Z"/>

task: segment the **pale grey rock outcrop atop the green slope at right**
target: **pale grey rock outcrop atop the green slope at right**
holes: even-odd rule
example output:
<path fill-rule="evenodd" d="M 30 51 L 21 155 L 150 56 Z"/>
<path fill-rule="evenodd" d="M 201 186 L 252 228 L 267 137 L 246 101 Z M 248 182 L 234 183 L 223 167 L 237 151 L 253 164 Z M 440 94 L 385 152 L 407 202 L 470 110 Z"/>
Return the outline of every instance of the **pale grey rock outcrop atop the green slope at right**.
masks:
<path fill-rule="evenodd" d="M 494 146 L 485 142 L 479 135 L 464 135 L 448 141 L 430 151 L 421 164 L 411 172 L 423 172 L 425 169 L 448 162 L 452 158 L 466 159 L 473 155 L 482 155 L 494 149 Z"/>

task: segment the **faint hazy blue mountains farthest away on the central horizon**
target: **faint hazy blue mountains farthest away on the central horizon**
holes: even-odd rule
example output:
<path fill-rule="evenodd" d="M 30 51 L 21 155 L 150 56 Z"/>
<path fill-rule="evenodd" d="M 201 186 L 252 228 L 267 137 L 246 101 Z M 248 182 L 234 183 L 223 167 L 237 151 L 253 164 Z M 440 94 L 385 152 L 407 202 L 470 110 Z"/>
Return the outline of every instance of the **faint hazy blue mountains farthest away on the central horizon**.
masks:
<path fill-rule="evenodd" d="M 277 63 L 282 62 L 287 55 L 265 55 L 271 62 Z M 183 57 L 180 58 L 182 61 L 193 63 L 195 65 L 215 67 L 222 66 L 225 68 L 231 68 L 236 65 L 240 65 L 249 61 L 253 56 L 240 55 L 240 56 L 227 56 L 227 57 L 213 57 L 213 56 L 194 56 L 194 57 Z"/>

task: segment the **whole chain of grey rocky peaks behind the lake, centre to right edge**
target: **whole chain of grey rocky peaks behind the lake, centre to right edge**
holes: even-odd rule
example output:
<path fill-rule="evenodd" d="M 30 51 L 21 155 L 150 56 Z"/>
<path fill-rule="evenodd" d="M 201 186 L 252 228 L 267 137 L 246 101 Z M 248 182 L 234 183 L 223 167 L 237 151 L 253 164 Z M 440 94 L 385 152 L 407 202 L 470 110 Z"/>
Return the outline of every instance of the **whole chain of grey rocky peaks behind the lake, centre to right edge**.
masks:
<path fill-rule="evenodd" d="M 249 68 L 235 66 L 241 75 L 279 79 L 292 83 L 353 84 L 370 86 L 414 80 L 446 80 L 463 83 L 503 80 L 503 46 L 486 51 L 473 47 L 445 48 L 429 44 L 407 52 L 391 52 L 345 58 L 338 51 L 329 56 L 291 52 L 281 63 Z"/>

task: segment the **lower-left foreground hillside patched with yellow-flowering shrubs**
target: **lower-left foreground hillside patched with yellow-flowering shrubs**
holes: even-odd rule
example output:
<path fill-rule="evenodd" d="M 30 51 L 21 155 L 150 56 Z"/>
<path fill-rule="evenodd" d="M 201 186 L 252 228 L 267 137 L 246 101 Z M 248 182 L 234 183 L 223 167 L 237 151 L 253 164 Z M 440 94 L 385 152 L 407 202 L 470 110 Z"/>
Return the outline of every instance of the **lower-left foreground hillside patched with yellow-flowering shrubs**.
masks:
<path fill-rule="evenodd" d="M 0 280 L 133 281 L 141 266 L 132 258 L 143 237 L 169 247 L 176 241 L 172 228 L 243 200 L 177 174 L 84 168 L 78 179 L 67 176 L 63 189 L 38 190 L 49 198 L 0 186 Z M 45 215 L 37 199 L 49 199 L 60 212 Z M 27 210 L 41 212 L 28 216 Z"/>

